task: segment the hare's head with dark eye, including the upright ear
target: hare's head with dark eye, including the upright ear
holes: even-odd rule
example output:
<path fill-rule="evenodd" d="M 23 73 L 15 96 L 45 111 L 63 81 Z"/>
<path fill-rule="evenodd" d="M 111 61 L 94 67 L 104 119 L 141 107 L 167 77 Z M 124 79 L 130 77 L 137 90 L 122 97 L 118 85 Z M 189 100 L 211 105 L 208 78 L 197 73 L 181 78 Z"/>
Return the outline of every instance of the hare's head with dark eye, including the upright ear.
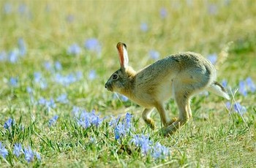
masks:
<path fill-rule="evenodd" d="M 124 43 L 118 42 L 116 48 L 118 50 L 121 68 L 110 76 L 108 82 L 105 84 L 105 88 L 108 91 L 125 94 L 132 85 L 132 77 L 135 75 L 135 71 L 128 66 L 127 46 Z"/>

